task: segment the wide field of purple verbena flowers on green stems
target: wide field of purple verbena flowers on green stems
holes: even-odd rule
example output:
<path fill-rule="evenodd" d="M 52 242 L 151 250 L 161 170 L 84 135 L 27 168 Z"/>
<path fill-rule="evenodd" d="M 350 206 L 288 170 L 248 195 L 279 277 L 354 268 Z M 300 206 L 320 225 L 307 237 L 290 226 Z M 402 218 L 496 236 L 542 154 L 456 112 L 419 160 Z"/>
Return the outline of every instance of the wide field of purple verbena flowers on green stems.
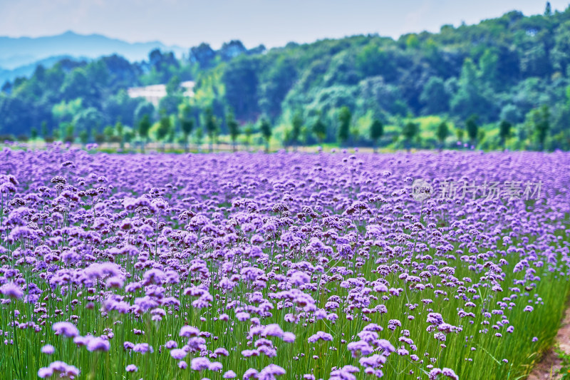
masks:
<path fill-rule="evenodd" d="M 570 289 L 569 163 L 4 148 L 0 378 L 524 378 Z"/>

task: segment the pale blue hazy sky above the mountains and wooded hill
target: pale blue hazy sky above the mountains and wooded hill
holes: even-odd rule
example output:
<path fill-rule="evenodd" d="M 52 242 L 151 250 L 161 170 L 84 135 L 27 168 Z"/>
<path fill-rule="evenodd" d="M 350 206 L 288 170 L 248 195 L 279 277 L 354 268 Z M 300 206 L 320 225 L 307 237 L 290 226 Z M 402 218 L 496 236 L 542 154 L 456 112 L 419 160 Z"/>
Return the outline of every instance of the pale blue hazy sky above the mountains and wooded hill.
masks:
<path fill-rule="evenodd" d="M 563 11 L 569 0 L 551 0 Z M 541 14 L 537 0 L 0 0 L 0 36 L 49 36 L 72 30 L 130 42 L 214 48 L 311 42 L 353 34 L 438 31 L 517 9 Z"/>

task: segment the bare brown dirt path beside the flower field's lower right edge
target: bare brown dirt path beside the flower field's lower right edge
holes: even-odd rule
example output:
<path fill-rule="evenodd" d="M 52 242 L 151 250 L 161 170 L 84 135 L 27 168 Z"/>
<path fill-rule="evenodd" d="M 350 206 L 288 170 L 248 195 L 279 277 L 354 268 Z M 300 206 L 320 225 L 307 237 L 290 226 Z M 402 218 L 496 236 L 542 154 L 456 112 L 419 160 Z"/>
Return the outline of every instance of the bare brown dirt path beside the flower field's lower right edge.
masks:
<path fill-rule="evenodd" d="M 566 312 L 564 312 L 564 319 L 562 320 L 558 334 L 556 334 L 554 346 L 546 351 L 542 360 L 534 366 L 534 369 L 527 380 L 561 379 L 562 375 L 558 373 L 561 367 L 561 360 L 554 352 L 555 346 L 559 346 L 559 348 L 566 352 L 566 354 L 570 354 L 570 307 L 568 307 Z"/>

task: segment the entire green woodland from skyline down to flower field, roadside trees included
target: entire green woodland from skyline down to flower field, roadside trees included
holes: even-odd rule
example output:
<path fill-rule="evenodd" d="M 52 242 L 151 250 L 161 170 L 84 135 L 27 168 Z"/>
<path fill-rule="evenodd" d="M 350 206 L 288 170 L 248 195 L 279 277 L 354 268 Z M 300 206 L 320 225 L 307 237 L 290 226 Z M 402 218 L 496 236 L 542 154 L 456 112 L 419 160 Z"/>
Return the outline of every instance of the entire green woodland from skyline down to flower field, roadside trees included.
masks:
<path fill-rule="evenodd" d="M 183 96 L 181 81 L 195 81 Z M 167 84 L 158 106 L 132 86 Z M 4 83 L 2 139 L 570 149 L 570 6 L 439 33 L 64 59 Z"/>

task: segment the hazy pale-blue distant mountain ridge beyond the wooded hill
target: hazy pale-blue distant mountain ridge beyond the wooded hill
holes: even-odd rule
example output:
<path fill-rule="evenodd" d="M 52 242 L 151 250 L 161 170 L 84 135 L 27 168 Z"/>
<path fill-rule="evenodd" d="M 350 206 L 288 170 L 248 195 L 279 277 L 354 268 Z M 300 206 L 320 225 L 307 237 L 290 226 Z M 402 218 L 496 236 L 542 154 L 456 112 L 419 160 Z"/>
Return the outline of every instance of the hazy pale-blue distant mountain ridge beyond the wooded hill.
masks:
<path fill-rule="evenodd" d="M 12 71 L 54 56 L 98 58 L 113 53 L 129 61 L 141 61 L 147 58 L 148 53 L 155 48 L 173 51 L 177 56 L 181 56 L 186 51 L 180 46 L 166 46 L 159 41 L 128 43 L 100 34 L 83 35 L 73 33 L 73 31 L 67 31 L 58 36 L 37 38 L 0 36 L 0 68 L 4 71 Z M 35 65 L 33 67 L 35 68 Z"/>

